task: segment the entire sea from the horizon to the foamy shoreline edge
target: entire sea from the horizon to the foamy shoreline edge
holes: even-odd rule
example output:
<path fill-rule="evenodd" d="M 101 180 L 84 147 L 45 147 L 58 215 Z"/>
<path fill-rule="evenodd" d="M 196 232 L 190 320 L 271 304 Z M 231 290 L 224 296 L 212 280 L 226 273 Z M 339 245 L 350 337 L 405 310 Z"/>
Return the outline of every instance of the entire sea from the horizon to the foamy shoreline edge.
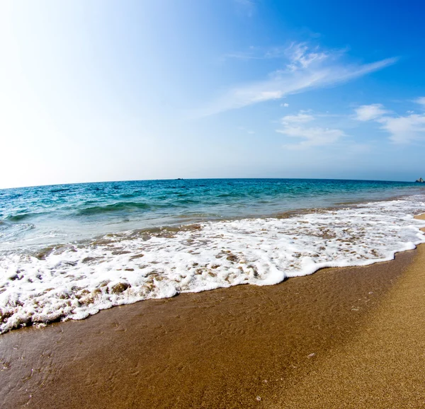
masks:
<path fill-rule="evenodd" d="M 0 190 L 0 333 L 322 267 L 425 242 L 425 187 L 210 179 Z"/>

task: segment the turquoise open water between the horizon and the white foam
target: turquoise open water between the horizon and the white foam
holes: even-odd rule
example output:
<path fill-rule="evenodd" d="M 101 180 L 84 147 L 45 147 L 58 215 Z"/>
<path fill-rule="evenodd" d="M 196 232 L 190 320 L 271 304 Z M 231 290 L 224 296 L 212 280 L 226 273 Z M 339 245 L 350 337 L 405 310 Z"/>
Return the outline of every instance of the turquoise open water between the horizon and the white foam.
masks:
<path fill-rule="evenodd" d="M 417 183 L 364 180 L 200 179 L 0 190 L 0 250 L 54 245 L 128 229 L 385 200 L 423 189 Z"/>

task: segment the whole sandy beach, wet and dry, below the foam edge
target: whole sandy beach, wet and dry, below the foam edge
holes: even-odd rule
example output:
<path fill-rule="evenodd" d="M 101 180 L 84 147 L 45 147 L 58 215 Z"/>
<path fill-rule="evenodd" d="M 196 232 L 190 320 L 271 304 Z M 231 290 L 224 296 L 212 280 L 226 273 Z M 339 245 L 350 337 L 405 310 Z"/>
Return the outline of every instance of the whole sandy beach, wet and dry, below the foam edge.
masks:
<path fill-rule="evenodd" d="M 425 245 L 0 336 L 1 408 L 425 406 Z"/>

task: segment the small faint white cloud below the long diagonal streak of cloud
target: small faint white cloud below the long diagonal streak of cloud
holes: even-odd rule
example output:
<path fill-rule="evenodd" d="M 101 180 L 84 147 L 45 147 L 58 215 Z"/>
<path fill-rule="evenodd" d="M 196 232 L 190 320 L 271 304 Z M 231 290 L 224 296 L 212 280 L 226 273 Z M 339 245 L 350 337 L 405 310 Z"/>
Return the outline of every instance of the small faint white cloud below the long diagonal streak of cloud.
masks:
<path fill-rule="evenodd" d="M 287 149 L 305 149 L 312 146 L 325 146 L 338 142 L 346 134 L 342 129 L 324 128 L 318 126 L 305 126 L 307 122 L 316 120 L 314 115 L 306 114 L 301 111 L 297 115 L 286 115 L 282 118 L 282 129 L 276 129 L 276 132 L 284 134 L 287 137 L 301 139 L 295 144 L 285 144 Z"/>

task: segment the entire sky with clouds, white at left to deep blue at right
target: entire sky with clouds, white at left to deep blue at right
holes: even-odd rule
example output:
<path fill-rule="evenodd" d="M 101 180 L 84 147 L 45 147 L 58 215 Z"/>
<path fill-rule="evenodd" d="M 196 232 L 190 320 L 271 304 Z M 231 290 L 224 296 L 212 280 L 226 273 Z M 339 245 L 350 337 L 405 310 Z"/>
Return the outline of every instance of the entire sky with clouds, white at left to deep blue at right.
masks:
<path fill-rule="evenodd" d="M 421 1 L 0 4 L 0 188 L 425 176 Z"/>

